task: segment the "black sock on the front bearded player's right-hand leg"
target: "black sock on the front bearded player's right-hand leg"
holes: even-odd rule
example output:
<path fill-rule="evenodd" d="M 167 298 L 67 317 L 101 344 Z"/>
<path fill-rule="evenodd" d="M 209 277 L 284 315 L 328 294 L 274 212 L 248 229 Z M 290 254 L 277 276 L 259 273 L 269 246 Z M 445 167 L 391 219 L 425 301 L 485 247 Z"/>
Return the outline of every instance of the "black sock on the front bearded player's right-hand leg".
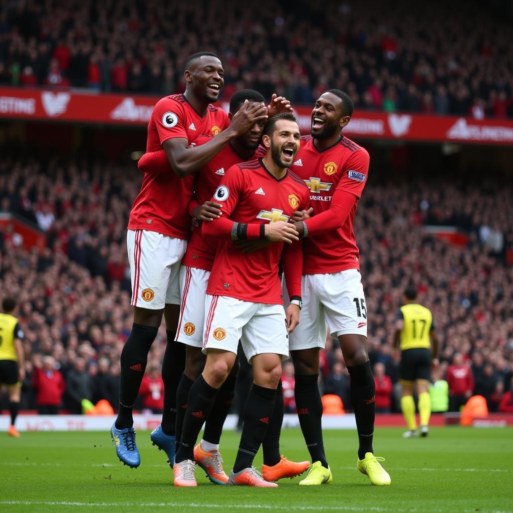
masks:
<path fill-rule="evenodd" d="M 253 464 L 267 433 L 275 398 L 276 390 L 273 388 L 264 388 L 254 383 L 251 385 L 244 407 L 244 426 L 233 472 L 240 472 Z"/>

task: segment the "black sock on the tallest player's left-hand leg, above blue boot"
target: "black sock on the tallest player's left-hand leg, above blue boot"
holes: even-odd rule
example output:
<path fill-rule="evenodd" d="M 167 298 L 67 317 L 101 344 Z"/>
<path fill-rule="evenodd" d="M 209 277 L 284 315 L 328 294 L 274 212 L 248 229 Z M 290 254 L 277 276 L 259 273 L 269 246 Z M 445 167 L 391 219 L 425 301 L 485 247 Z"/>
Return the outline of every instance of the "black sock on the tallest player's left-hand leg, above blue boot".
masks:
<path fill-rule="evenodd" d="M 157 336 L 158 329 L 143 324 L 132 324 L 132 331 L 121 351 L 120 409 L 116 428 L 132 427 L 132 408 L 146 369 L 148 351 Z"/>

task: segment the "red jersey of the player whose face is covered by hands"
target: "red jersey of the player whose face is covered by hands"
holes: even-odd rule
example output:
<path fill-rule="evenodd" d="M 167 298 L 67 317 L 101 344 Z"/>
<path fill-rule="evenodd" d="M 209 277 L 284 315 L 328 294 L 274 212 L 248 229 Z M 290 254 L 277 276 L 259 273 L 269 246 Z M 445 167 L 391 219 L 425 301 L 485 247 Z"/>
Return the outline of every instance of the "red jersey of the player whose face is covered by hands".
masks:
<path fill-rule="evenodd" d="M 212 136 L 199 137 L 195 141 L 196 146 L 208 143 Z M 254 156 L 250 157 L 254 159 Z M 247 159 L 250 160 L 250 159 Z M 212 198 L 212 194 L 218 187 L 219 182 L 225 175 L 225 170 L 229 169 L 234 164 L 244 162 L 245 159 L 241 157 L 227 144 L 213 159 L 205 166 L 203 166 L 195 175 L 194 179 L 194 198 L 189 204 L 189 214 L 192 215 L 192 209 L 197 205 L 203 205 L 206 201 Z M 201 227 L 195 227 L 192 230 L 189 244 L 185 257 L 182 260 L 183 265 L 194 267 L 196 269 L 204 269 L 210 271 L 214 262 L 215 250 L 218 244 L 212 239 L 205 238 L 201 233 Z"/>

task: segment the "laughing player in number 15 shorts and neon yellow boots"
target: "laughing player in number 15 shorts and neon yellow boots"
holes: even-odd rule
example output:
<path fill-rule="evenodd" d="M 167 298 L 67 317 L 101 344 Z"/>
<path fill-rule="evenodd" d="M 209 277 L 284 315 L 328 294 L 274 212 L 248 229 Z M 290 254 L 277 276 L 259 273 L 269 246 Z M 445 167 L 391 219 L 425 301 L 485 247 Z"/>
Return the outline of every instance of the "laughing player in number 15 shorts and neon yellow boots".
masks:
<path fill-rule="evenodd" d="M 326 323 L 337 337 L 351 377 L 351 403 L 360 446 L 357 468 L 372 484 L 388 485 L 390 476 L 373 455 L 375 385 L 367 354 L 367 308 L 353 219 L 367 181 L 369 155 L 341 135 L 353 111 L 351 98 L 338 89 L 323 93 L 311 115 L 311 135 L 302 144 L 293 169 L 310 189 L 315 215 L 295 224 L 303 241 L 301 329 L 290 336 L 295 367 L 295 403 L 313 465 L 300 483 L 331 481 L 322 438 L 322 402 L 317 381 L 319 350 Z M 381 459 L 380 459 L 381 460 Z"/>

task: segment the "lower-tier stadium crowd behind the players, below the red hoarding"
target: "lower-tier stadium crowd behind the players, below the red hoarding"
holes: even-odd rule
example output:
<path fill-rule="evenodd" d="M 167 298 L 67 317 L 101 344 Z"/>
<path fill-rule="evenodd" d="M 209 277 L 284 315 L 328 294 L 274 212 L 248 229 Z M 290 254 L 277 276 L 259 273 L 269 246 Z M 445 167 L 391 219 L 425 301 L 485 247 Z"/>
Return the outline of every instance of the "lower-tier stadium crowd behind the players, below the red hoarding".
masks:
<path fill-rule="evenodd" d="M 82 399 L 117 407 L 120 353 L 132 324 L 126 223 L 141 175 L 126 166 L 44 161 L 0 163 L 0 211 L 46 231 L 47 247 L 27 251 L 10 224 L 0 236 L 2 295 L 18 301 L 25 331 L 26 379 L 22 408 L 82 410 Z M 513 409 L 513 250 L 511 184 L 478 182 L 455 174 L 451 182 L 411 176 L 398 183 L 370 175 L 355 232 L 369 319 L 369 356 L 379 411 L 400 411 L 398 356 L 392 350 L 394 316 L 406 285 L 437 322 L 441 365 L 451 406 L 482 394 L 491 411 Z M 429 224 L 460 226 L 465 246 L 443 242 Z M 148 357 L 139 408 L 160 411 L 163 327 Z M 350 407 L 349 376 L 338 342 L 321 355 L 324 393 Z M 247 367 L 245 367 L 247 368 Z M 294 411 L 290 364 L 284 365 L 287 411 Z M 285 383 L 286 382 L 286 383 Z"/>

